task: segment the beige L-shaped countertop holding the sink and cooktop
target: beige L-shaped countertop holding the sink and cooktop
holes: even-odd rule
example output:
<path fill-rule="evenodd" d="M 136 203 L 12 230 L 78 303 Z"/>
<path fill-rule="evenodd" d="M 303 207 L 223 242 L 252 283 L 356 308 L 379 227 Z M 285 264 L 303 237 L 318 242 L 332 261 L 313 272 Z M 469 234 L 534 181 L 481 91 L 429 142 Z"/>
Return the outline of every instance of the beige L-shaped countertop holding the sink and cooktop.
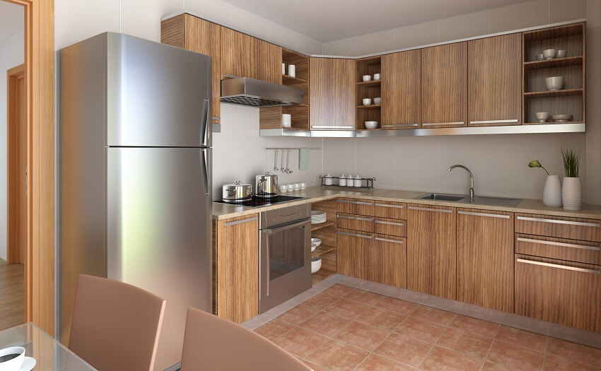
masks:
<path fill-rule="evenodd" d="M 246 207 L 246 206 L 235 206 L 228 204 L 220 204 L 217 202 L 213 203 L 213 218 L 217 220 L 234 218 L 236 216 L 245 216 L 254 213 L 260 213 L 262 211 L 274 210 L 285 206 L 294 206 L 300 204 L 306 204 L 307 202 L 317 202 L 327 199 L 335 199 L 337 197 L 350 197 L 356 199 L 371 199 L 375 201 L 397 201 L 407 202 L 410 204 L 426 204 L 436 206 L 454 206 L 459 208 L 474 208 L 479 210 L 496 210 L 496 211 L 511 211 L 514 213 L 533 213 L 533 214 L 544 214 L 549 216 L 567 216 L 572 218 L 591 218 L 601 219 L 601 206 L 583 204 L 582 209 L 579 211 L 569 211 L 563 208 L 548 207 L 542 204 L 542 200 L 523 199 L 518 206 L 506 207 L 506 206 L 488 206 L 488 205 L 475 205 L 465 204 L 460 202 L 450 201 L 433 201 L 433 200 L 420 200 L 414 199 L 414 197 L 426 194 L 426 192 L 413 192 L 413 191 L 395 191 L 392 189 L 373 189 L 372 191 L 346 191 L 342 189 L 327 188 L 327 187 L 309 187 L 302 192 L 293 192 L 287 194 L 289 196 L 305 197 L 297 201 L 284 202 L 281 204 L 274 204 L 269 206 L 260 207 Z"/>

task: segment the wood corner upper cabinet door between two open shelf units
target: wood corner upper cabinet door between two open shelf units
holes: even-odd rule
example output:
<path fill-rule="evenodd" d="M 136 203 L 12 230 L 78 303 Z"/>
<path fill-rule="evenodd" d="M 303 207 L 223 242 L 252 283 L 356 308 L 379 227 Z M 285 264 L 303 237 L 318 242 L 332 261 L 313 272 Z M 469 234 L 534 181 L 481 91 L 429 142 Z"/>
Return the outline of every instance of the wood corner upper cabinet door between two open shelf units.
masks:
<path fill-rule="evenodd" d="M 311 58 L 309 75 L 311 130 L 354 130 L 355 60 Z"/>

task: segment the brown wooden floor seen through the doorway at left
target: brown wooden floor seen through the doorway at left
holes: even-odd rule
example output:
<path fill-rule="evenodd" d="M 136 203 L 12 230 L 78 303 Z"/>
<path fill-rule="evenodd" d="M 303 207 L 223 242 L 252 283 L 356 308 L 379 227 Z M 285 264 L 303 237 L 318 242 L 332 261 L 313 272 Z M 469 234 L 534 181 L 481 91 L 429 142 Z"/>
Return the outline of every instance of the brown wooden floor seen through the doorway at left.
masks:
<path fill-rule="evenodd" d="M 23 264 L 7 264 L 0 259 L 0 330 L 25 319 L 23 281 Z"/>

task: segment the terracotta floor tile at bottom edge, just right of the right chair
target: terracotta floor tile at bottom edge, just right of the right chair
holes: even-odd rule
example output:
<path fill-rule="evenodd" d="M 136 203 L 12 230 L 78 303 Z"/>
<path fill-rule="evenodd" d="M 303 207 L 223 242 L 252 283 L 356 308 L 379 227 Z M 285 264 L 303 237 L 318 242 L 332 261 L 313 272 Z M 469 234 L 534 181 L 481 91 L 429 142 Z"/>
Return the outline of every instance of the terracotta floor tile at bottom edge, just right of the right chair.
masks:
<path fill-rule="evenodd" d="M 342 341 L 329 340 L 308 356 L 307 360 L 331 370 L 354 370 L 369 355 L 368 351 L 349 346 Z"/>

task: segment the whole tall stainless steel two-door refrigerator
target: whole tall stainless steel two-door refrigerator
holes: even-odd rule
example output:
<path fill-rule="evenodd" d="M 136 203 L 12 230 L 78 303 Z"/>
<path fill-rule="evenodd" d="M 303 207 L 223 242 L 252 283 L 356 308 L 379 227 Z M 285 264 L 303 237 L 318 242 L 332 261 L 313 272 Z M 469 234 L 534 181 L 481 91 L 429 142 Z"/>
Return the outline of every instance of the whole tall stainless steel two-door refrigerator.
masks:
<path fill-rule="evenodd" d="M 211 312 L 211 57 L 118 33 L 59 51 L 59 336 L 79 273 L 167 300 L 156 370 L 187 307 Z"/>

